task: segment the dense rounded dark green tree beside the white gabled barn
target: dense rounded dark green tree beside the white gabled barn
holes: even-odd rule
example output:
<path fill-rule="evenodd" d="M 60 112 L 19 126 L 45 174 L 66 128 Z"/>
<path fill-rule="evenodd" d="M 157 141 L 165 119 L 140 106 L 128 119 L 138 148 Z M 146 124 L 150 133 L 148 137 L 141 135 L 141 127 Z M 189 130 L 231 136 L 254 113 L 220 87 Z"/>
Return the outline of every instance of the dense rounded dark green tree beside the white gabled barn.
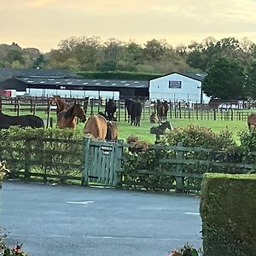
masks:
<path fill-rule="evenodd" d="M 239 100 L 244 97 L 245 74 L 236 61 L 220 58 L 207 71 L 203 91 L 212 98 Z"/>

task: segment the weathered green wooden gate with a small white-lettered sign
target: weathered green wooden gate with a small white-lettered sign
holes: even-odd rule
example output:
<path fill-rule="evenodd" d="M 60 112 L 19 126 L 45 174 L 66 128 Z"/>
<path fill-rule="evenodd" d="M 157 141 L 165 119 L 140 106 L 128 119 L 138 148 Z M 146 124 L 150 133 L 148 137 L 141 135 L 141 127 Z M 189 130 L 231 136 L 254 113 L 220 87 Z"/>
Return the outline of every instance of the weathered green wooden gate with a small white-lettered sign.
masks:
<path fill-rule="evenodd" d="M 84 138 L 84 170 L 82 184 L 116 187 L 119 184 L 123 146 L 121 142 L 108 143 Z"/>

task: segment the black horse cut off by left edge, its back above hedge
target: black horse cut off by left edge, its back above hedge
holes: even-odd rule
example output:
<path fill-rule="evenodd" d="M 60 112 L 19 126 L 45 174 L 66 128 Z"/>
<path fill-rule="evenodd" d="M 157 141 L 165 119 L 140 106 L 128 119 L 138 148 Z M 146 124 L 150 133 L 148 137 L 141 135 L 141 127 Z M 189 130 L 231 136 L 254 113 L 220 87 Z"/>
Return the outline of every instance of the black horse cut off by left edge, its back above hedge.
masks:
<path fill-rule="evenodd" d="M 19 125 L 22 128 L 44 128 L 44 120 L 32 114 L 10 116 L 0 113 L 0 129 L 9 129 L 12 125 Z"/>

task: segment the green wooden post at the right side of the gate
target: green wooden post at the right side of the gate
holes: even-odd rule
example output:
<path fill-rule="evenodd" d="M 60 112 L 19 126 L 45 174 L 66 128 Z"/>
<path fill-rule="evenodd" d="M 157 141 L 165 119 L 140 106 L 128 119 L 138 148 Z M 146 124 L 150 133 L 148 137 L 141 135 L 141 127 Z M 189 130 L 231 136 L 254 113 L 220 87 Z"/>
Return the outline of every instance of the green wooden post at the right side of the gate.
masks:
<path fill-rule="evenodd" d="M 122 155 L 123 155 L 123 141 L 118 140 L 114 145 L 114 170 L 113 170 L 113 186 L 114 188 L 122 187 L 122 177 L 119 171 L 122 166 Z"/>

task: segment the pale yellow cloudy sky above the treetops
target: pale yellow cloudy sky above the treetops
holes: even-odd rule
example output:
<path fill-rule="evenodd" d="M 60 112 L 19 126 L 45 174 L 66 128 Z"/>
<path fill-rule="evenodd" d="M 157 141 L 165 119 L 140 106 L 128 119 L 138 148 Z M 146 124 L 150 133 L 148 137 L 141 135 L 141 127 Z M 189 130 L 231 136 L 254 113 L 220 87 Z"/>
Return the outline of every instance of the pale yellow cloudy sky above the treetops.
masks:
<path fill-rule="evenodd" d="M 0 44 L 42 52 L 63 39 L 100 37 L 172 46 L 205 38 L 256 44 L 256 0 L 0 0 Z"/>

